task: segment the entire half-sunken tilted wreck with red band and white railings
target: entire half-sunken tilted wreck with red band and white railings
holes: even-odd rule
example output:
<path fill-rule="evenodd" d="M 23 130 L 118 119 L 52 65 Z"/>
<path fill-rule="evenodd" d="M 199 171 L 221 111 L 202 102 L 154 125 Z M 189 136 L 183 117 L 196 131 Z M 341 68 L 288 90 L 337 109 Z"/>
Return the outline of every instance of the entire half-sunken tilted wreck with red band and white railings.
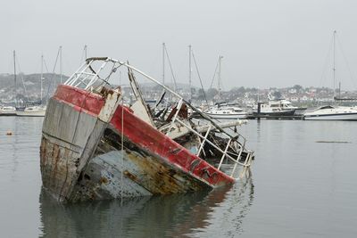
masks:
<path fill-rule="evenodd" d="M 137 101 L 122 101 L 108 80 L 126 67 Z M 134 71 L 162 86 L 177 103 L 157 111 L 140 93 Z M 162 96 L 163 97 L 163 96 Z M 196 123 L 188 111 L 202 114 Z M 253 152 L 179 94 L 125 62 L 89 58 L 47 104 L 41 141 L 41 174 L 59 201 L 104 200 L 184 193 L 231 185 L 245 176 Z M 212 161 L 209 163 L 208 161 Z M 222 169 L 229 163 L 229 169 Z M 223 171 L 224 170 L 224 171 Z"/>

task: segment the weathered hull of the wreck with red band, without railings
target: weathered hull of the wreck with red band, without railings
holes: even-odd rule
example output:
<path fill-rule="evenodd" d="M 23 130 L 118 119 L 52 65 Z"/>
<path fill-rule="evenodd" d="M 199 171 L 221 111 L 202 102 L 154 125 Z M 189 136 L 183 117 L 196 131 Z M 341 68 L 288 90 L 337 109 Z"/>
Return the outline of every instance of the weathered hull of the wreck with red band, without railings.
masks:
<path fill-rule="evenodd" d="M 59 86 L 47 105 L 40 147 L 41 175 L 59 201 L 105 200 L 186 193 L 234 179 L 119 106 L 90 144 L 104 98 Z M 87 148 L 93 154 L 79 170 Z M 93 148 L 92 148 L 93 147 Z"/>

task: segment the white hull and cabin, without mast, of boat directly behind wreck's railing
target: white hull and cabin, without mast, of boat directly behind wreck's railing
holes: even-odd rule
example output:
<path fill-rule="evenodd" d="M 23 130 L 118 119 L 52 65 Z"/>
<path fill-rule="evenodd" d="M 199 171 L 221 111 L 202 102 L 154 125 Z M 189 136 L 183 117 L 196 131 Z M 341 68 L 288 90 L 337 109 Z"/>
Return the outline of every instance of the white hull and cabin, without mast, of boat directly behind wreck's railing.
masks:
<path fill-rule="evenodd" d="M 248 113 L 243 109 L 229 104 L 218 104 L 204 113 L 210 116 L 212 119 L 246 119 Z"/>

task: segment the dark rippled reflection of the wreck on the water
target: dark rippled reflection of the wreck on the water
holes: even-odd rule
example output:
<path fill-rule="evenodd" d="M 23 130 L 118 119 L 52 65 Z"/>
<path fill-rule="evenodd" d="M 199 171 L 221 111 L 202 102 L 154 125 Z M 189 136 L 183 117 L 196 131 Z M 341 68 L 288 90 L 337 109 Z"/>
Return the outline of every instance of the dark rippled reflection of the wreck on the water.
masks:
<path fill-rule="evenodd" d="M 224 232 L 234 233 L 241 229 L 253 202 L 251 178 L 243 184 L 237 183 L 233 189 L 230 186 L 220 187 L 210 193 L 201 191 L 64 205 L 42 190 L 39 199 L 42 235 L 185 237 L 187 234 L 221 234 L 220 228 L 212 228 L 225 220 L 216 221 L 221 216 L 228 217 L 230 221 L 225 224 L 227 230 Z M 216 209 L 219 207 L 225 209 Z M 220 215 L 216 214 L 217 211 Z"/>

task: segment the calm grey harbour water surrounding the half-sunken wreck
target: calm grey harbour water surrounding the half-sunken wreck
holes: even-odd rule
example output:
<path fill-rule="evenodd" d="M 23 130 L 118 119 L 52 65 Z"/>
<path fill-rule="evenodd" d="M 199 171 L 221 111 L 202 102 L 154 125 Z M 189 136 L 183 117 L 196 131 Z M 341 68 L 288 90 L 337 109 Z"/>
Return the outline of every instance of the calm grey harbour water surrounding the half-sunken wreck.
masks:
<path fill-rule="evenodd" d="M 256 158 L 246 181 L 211 193 L 69 206 L 41 190 L 41 127 L 40 118 L 0 117 L 0 237 L 357 234 L 357 122 L 252 120 L 240 128 Z"/>

